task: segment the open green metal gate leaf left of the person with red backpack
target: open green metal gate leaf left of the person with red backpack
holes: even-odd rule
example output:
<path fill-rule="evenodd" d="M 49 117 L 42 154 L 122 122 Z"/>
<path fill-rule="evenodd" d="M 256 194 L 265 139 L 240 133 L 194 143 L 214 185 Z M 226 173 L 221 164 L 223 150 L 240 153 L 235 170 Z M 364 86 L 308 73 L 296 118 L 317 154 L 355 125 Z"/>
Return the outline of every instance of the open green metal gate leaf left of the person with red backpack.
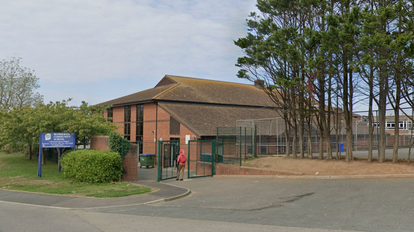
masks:
<path fill-rule="evenodd" d="M 177 157 L 180 141 L 158 141 L 157 181 L 177 178 Z"/>

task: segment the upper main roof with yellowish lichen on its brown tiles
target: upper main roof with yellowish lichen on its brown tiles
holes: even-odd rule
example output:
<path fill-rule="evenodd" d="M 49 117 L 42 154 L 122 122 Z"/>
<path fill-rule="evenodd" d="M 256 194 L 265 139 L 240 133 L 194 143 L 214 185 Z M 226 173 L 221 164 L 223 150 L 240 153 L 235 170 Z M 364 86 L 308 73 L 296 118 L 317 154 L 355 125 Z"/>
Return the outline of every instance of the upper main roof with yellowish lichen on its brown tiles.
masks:
<path fill-rule="evenodd" d="M 158 85 L 162 83 L 169 85 L 144 90 L 99 105 L 128 104 L 149 99 L 258 107 L 275 105 L 265 91 L 248 84 L 170 75 L 164 76 Z"/>

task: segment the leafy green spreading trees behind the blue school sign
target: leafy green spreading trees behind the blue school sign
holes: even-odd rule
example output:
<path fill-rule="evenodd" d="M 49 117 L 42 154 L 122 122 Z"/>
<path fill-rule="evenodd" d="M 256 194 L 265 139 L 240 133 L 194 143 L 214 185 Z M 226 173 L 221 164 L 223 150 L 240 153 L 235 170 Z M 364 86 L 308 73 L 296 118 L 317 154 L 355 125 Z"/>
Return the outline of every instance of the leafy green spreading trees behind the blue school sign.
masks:
<path fill-rule="evenodd" d="M 82 102 L 80 107 L 68 106 L 70 100 L 3 111 L 5 121 L 0 125 L 0 146 L 38 144 L 42 132 L 75 132 L 80 141 L 89 140 L 91 135 L 108 135 L 118 128 L 103 118 L 108 107 L 89 106 L 87 102 Z"/>

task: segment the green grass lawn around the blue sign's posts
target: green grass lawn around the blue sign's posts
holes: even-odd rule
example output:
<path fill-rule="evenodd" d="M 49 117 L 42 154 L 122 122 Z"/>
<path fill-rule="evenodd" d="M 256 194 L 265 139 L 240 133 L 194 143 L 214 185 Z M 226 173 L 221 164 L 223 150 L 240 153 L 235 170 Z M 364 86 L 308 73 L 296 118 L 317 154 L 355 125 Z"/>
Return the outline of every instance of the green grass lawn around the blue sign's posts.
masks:
<path fill-rule="evenodd" d="M 115 184 L 88 184 L 64 178 L 58 164 L 46 162 L 42 166 L 42 178 L 37 177 L 38 161 L 27 159 L 22 154 L 0 152 L 0 188 L 27 192 L 64 194 L 70 196 L 120 197 L 151 192 L 151 188 Z"/>

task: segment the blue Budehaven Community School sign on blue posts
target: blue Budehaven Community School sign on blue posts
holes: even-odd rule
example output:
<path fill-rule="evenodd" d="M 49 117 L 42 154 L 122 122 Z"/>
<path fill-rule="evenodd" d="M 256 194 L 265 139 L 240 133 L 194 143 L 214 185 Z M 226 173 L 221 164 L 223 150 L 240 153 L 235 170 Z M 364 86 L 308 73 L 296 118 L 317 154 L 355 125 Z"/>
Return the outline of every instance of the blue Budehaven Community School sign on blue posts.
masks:
<path fill-rule="evenodd" d="M 76 150 L 76 133 L 40 133 L 39 166 L 37 170 L 37 176 L 39 177 L 42 177 L 42 148 L 59 149 L 60 171 L 60 156 L 62 156 L 62 148 L 73 148 L 73 150 Z"/>

